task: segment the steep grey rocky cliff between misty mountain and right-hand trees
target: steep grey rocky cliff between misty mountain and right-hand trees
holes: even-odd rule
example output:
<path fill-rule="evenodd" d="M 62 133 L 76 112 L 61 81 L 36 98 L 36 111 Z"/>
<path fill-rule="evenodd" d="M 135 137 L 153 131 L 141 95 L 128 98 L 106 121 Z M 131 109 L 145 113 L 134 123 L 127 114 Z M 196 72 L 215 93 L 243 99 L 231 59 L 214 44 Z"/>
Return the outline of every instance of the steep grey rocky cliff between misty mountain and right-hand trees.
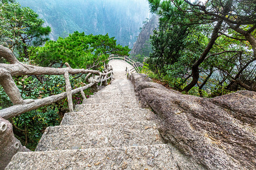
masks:
<path fill-rule="evenodd" d="M 150 39 L 150 35 L 153 35 L 154 29 L 158 28 L 159 17 L 154 15 L 148 21 L 148 23 L 144 24 L 142 27 L 141 33 L 139 33 L 137 41 L 133 45 L 133 49 L 131 49 L 131 54 L 141 54 L 143 46 Z"/>

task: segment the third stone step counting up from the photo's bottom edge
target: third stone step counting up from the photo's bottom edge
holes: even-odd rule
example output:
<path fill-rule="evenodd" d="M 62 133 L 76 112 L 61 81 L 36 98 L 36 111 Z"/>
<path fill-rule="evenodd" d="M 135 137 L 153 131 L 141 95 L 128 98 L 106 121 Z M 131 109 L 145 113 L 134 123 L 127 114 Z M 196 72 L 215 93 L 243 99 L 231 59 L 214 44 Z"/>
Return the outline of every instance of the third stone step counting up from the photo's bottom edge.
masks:
<path fill-rule="evenodd" d="M 104 124 L 153 120 L 155 114 L 146 109 L 112 109 L 107 111 L 65 113 L 61 125 Z"/>

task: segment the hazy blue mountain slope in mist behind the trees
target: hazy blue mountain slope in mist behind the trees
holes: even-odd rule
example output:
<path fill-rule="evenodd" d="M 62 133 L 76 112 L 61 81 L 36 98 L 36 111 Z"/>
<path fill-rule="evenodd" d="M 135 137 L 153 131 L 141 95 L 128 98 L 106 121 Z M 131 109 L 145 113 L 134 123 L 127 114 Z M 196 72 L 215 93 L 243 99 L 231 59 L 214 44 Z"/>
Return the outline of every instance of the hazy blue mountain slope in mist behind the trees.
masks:
<path fill-rule="evenodd" d="M 132 48 L 139 28 L 150 18 L 147 0 L 18 0 L 30 7 L 52 28 L 51 40 L 74 31 L 115 37 L 118 44 Z"/>

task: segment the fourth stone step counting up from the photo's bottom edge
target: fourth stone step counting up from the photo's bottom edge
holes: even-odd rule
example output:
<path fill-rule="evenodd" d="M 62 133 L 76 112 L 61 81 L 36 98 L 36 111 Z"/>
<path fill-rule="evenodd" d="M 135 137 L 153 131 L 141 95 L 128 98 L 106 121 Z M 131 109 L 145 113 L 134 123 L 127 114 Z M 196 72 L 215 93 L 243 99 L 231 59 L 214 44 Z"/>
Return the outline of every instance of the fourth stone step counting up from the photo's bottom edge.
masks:
<path fill-rule="evenodd" d="M 137 101 L 126 101 L 126 103 L 94 103 L 94 104 L 77 104 L 75 107 L 76 112 L 84 112 L 84 111 L 106 111 L 113 109 L 135 109 L 141 108 L 141 105 Z"/>

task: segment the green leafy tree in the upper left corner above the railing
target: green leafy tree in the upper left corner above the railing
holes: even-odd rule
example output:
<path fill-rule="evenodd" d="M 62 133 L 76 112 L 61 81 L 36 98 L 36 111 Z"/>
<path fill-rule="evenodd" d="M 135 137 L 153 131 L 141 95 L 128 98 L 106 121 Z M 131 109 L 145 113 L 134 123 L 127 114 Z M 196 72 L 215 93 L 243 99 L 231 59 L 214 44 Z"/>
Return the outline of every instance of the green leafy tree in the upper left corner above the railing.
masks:
<path fill-rule="evenodd" d="M 43 27 L 44 21 L 30 8 L 5 1 L 0 3 L 0 11 L 1 44 L 17 49 L 20 57 L 30 58 L 48 40 L 51 28 Z"/>

